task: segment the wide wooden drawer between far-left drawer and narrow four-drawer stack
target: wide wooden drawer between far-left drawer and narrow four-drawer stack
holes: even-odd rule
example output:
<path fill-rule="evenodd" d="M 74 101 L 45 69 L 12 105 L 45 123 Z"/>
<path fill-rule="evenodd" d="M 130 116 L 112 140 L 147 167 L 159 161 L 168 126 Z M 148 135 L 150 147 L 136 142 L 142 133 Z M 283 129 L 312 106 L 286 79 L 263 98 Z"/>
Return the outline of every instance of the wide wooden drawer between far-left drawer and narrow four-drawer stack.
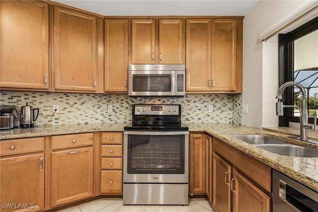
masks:
<path fill-rule="evenodd" d="M 52 136 L 51 149 L 93 145 L 93 133 Z"/>

